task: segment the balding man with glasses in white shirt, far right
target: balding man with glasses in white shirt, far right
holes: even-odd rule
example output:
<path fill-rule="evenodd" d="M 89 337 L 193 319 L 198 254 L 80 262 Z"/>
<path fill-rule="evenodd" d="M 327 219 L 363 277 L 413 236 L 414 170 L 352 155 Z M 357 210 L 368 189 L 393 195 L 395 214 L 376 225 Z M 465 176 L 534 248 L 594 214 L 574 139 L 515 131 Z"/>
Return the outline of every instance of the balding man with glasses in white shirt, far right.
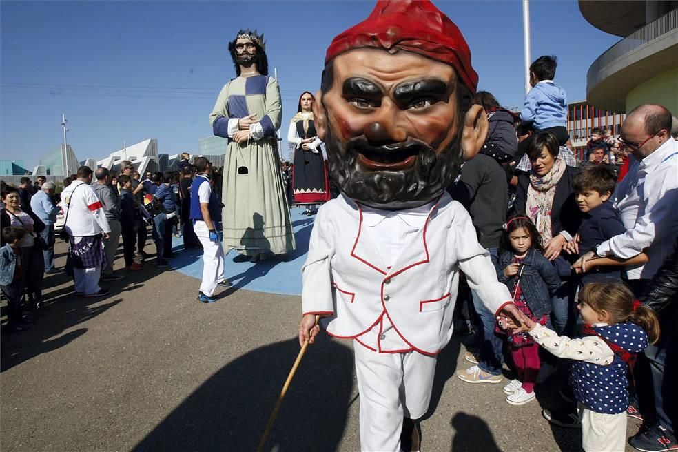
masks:
<path fill-rule="evenodd" d="M 626 267 L 627 283 L 635 296 L 649 289 L 648 281 L 671 253 L 678 236 L 678 149 L 670 135 L 671 121 L 670 112 L 654 104 L 640 105 L 626 116 L 619 143 L 635 161 L 617 186 L 614 206 L 627 231 L 596 245 L 575 263 L 583 263 L 585 269 L 586 260 L 597 256 L 627 259 L 645 251 L 650 262 Z M 648 346 L 636 367 L 644 426 L 629 444 L 641 451 L 666 451 L 675 446 L 676 395 L 670 382 L 675 382 L 676 376 L 670 376 L 671 368 L 665 363 L 677 359 L 677 339 L 676 331 L 663 329 L 659 342 Z M 633 405 L 630 409 L 638 412 Z"/>

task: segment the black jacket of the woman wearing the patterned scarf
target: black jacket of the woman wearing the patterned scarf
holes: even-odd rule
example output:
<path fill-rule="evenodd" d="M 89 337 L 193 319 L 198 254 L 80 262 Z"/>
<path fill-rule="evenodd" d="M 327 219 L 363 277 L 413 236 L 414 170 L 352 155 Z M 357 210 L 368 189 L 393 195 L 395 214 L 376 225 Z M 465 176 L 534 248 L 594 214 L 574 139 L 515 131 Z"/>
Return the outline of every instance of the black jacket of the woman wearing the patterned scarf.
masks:
<path fill-rule="evenodd" d="M 575 167 L 565 167 L 560 181 L 555 185 L 553 206 L 551 207 L 551 230 L 553 236 L 567 231 L 574 236 L 582 223 L 582 212 L 577 207 L 575 192 L 572 189 L 572 179 L 579 173 Z M 526 214 L 527 192 L 530 185 L 530 175 L 522 174 L 518 177 L 518 185 L 515 187 L 515 204 L 513 208 L 516 214 Z"/>

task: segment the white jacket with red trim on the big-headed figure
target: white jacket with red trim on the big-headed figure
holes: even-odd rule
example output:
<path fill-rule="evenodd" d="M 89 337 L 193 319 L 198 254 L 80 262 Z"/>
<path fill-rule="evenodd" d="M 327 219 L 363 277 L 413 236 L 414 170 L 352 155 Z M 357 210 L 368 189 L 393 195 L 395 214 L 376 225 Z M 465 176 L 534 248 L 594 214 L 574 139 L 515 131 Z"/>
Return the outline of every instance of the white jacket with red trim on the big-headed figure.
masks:
<path fill-rule="evenodd" d="M 511 300 L 471 217 L 447 193 L 392 267 L 361 229 L 360 205 L 342 194 L 318 209 L 311 232 L 302 267 L 303 312 L 327 316 L 321 322 L 332 336 L 356 338 L 388 316 L 413 349 L 438 353 L 452 336 L 460 269 L 490 311 Z"/>

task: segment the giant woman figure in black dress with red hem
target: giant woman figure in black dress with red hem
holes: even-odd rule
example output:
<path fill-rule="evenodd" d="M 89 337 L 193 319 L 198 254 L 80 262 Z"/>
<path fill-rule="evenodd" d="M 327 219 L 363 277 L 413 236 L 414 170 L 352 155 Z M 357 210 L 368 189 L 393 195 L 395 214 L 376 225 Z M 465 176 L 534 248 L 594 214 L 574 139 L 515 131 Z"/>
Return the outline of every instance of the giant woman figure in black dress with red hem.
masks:
<path fill-rule="evenodd" d="M 287 142 L 294 145 L 294 170 L 292 173 L 292 189 L 294 202 L 307 205 L 306 214 L 316 213 L 315 205 L 329 201 L 329 179 L 325 167 L 325 152 L 320 146 L 313 107 L 314 96 L 303 92 L 299 98 L 297 114 L 289 125 Z"/>

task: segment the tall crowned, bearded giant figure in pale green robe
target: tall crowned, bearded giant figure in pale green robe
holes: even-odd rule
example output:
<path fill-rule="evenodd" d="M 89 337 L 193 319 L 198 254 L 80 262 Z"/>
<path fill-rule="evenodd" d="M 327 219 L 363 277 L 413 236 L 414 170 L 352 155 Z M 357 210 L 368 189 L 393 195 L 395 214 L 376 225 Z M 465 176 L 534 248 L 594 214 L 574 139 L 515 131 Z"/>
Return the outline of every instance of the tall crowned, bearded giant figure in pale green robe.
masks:
<path fill-rule="evenodd" d="M 256 261 L 296 247 L 280 172 L 280 88 L 268 76 L 263 35 L 240 30 L 229 43 L 236 79 L 219 93 L 209 123 L 229 138 L 223 170 L 223 245 Z"/>

